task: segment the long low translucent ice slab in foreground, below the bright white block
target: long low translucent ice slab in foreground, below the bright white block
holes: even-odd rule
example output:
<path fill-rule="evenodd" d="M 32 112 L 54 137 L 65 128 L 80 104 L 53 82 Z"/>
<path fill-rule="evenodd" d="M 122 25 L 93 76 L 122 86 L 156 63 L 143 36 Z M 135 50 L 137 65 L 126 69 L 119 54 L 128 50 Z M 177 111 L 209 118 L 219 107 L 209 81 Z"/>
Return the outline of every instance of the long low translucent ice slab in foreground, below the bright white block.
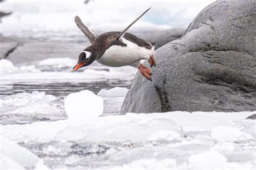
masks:
<path fill-rule="evenodd" d="M 121 118 L 121 117 L 120 117 Z M 138 121 L 138 120 L 137 120 Z M 88 141 L 132 141 L 140 142 L 159 137 L 157 133 L 167 131 L 167 137 L 171 139 L 184 135 L 182 128 L 174 121 L 167 119 L 152 119 L 145 122 L 131 120 L 126 123 L 116 123 L 104 126 L 68 126 L 56 136 L 58 140 L 80 139 Z M 74 135 L 67 135 L 74 133 Z M 154 134 L 155 133 L 155 134 Z M 152 137 L 152 134 L 153 137 Z M 161 137 L 161 136 L 160 136 Z M 148 139 L 149 138 L 149 139 Z"/>

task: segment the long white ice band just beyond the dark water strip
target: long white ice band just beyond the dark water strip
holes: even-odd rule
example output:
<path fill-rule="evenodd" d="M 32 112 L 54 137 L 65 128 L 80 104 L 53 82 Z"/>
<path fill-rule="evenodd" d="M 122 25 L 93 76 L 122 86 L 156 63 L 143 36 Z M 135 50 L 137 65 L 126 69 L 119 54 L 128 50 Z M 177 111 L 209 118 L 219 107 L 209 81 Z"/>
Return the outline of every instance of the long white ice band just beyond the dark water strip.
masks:
<path fill-rule="evenodd" d="M 65 59 L 65 58 L 64 58 Z M 54 59 L 54 61 L 58 61 L 62 59 Z M 66 59 L 69 60 L 69 59 Z M 95 64 L 95 66 L 87 67 L 83 72 L 79 70 L 79 72 L 71 72 L 73 68 L 73 62 L 63 63 L 58 65 L 50 65 L 53 59 L 43 60 L 42 65 L 31 65 L 31 66 L 22 66 L 15 67 L 8 60 L 0 60 L 0 64 L 5 65 L 5 62 L 8 63 L 8 67 L 0 68 L 0 76 L 1 80 L 4 82 L 11 81 L 20 82 L 22 81 L 39 81 L 42 80 L 50 80 L 51 82 L 56 81 L 65 81 L 69 82 L 74 80 L 76 82 L 80 81 L 106 81 L 106 80 L 132 80 L 134 75 L 137 72 L 136 68 L 131 66 L 124 66 L 120 68 L 110 68 L 106 66 L 100 66 Z M 74 60 L 75 61 L 75 60 Z M 71 64 L 72 63 L 72 64 Z M 45 64 L 45 65 L 43 65 Z M 49 65 L 46 65 L 49 64 Z M 72 66 L 71 66 L 72 65 Z M 13 67 L 12 67 L 13 66 Z M 58 72 L 56 72 L 56 70 Z M 82 70 L 82 69 L 81 69 Z M 3 82 L 1 82 L 3 83 Z M 9 83 L 8 83 L 9 84 Z"/>

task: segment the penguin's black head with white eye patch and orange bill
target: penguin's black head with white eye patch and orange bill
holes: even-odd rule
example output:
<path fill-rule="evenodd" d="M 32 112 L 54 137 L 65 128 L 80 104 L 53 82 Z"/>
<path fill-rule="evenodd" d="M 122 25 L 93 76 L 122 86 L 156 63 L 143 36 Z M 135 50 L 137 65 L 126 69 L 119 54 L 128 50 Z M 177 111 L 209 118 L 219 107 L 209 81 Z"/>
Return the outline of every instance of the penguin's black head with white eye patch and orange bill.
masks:
<path fill-rule="evenodd" d="M 95 60 L 96 56 L 93 51 L 86 48 L 79 54 L 77 65 L 73 67 L 73 71 L 75 72 L 79 68 L 89 66 Z"/>

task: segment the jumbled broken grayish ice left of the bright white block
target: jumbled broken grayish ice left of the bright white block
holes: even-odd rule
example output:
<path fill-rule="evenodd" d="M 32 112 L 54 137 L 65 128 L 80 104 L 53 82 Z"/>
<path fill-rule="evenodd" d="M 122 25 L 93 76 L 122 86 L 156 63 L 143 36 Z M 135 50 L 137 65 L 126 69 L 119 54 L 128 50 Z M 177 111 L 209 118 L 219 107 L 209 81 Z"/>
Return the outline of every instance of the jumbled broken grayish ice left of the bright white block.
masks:
<path fill-rule="evenodd" d="M 62 99 L 38 91 L 3 97 L 0 110 L 0 124 L 23 124 L 66 118 Z"/>

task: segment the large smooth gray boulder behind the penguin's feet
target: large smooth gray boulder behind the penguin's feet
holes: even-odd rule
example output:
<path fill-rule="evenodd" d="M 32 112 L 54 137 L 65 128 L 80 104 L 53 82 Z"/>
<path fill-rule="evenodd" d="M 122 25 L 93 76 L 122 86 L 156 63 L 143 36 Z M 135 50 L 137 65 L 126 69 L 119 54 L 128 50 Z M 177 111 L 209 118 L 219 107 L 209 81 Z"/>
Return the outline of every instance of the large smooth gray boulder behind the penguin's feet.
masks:
<path fill-rule="evenodd" d="M 136 74 L 121 114 L 256 110 L 255 9 L 254 0 L 208 5 L 156 51 L 152 82 Z"/>

